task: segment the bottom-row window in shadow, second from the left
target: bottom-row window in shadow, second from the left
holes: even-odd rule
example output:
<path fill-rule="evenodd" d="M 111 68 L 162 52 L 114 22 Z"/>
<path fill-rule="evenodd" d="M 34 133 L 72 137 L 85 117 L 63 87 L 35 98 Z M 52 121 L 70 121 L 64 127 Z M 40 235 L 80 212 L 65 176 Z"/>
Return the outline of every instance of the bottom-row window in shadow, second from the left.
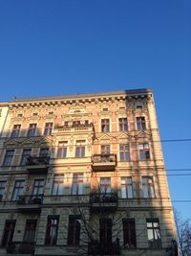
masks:
<path fill-rule="evenodd" d="M 36 220 L 27 220 L 25 226 L 25 234 L 23 237 L 23 242 L 32 243 L 34 242 L 35 230 L 36 230 Z"/>

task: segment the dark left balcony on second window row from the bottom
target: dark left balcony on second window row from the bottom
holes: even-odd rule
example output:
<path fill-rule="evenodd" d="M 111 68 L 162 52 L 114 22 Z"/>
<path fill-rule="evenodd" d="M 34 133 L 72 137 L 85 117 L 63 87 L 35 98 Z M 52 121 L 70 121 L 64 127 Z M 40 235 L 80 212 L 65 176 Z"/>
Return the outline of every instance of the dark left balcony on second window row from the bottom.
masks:
<path fill-rule="evenodd" d="M 43 195 L 19 196 L 16 205 L 20 212 L 40 212 L 40 205 L 43 202 Z"/>

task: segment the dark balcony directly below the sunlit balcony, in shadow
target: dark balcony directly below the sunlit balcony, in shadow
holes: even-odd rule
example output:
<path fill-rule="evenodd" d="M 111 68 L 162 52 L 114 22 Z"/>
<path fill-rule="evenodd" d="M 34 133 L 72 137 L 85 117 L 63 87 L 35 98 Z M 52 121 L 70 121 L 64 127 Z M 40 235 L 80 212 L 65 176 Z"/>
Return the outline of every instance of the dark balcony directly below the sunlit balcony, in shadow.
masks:
<path fill-rule="evenodd" d="M 92 211 L 117 210 L 117 193 L 91 193 L 90 204 Z"/>

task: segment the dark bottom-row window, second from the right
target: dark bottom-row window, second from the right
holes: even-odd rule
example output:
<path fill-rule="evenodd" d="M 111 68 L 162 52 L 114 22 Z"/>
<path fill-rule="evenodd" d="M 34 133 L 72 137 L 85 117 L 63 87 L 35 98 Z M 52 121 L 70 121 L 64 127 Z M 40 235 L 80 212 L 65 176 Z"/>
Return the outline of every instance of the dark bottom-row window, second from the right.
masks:
<path fill-rule="evenodd" d="M 136 247 L 136 223 L 134 219 L 123 219 L 123 245 L 124 247 Z"/>

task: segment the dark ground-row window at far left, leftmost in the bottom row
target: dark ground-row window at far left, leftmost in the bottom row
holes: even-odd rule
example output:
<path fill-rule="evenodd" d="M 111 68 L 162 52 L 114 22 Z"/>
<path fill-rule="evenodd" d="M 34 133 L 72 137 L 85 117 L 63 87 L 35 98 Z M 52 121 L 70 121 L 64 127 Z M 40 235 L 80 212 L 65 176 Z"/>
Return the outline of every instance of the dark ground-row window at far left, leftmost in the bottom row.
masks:
<path fill-rule="evenodd" d="M 14 227 L 15 227 L 15 220 L 6 221 L 4 234 L 2 239 L 2 246 L 8 246 L 12 242 L 13 234 L 14 234 Z"/>

